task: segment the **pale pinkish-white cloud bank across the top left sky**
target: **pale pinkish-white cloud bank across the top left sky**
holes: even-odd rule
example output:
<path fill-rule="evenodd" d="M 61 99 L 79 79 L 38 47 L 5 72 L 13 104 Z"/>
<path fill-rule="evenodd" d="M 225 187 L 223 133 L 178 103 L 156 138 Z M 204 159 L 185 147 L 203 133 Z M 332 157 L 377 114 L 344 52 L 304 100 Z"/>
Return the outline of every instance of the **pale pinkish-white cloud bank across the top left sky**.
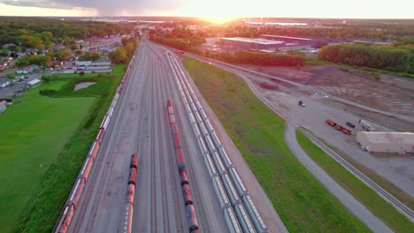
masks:
<path fill-rule="evenodd" d="M 14 6 L 33 6 L 56 9 L 92 8 L 100 16 L 165 14 L 180 7 L 185 0 L 0 0 Z"/>

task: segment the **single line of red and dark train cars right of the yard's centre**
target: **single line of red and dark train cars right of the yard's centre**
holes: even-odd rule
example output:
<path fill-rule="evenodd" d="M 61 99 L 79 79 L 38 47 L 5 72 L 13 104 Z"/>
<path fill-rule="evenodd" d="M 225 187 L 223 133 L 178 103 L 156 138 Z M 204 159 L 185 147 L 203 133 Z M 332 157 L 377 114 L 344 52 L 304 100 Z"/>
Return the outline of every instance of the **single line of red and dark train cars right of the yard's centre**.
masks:
<path fill-rule="evenodd" d="M 184 155 L 182 154 L 179 130 L 178 130 L 177 123 L 175 121 L 172 100 L 167 100 L 167 111 L 168 111 L 168 116 L 170 116 L 171 132 L 173 133 L 173 142 L 174 142 L 175 154 L 177 157 L 177 166 L 178 166 L 179 173 L 180 173 L 182 196 L 184 198 L 184 204 L 186 207 L 188 230 L 190 233 L 196 233 L 198 232 L 196 210 L 193 206 L 193 197 L 191 196 L 191 189 L 188 183 L 186 164 L 184 162 Z"/>

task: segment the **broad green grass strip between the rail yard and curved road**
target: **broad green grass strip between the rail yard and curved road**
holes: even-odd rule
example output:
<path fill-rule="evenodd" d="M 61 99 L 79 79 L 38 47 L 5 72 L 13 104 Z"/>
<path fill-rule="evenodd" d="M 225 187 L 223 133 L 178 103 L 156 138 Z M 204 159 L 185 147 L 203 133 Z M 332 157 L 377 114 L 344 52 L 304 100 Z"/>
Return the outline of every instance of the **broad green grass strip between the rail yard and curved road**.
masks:
<path fill-rule="evenodd" d="M 291 232 L 369 232 L 285 144 L 285 124 L 238 76 L 184 58 L 184 65 Z"/>

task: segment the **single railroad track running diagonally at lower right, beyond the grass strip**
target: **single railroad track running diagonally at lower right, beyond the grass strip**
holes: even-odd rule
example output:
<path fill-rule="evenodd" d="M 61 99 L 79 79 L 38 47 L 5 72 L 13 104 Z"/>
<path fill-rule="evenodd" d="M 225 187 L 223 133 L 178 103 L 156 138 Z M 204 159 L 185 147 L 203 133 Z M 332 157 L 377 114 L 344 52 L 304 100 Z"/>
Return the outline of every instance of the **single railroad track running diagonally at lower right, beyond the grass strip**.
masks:
<path fill-rule="evenodd" d="M 306 132 L 306 131 L 303 131 L 303 132 L 308 136 L 308 138 L 310 138 L 315 144 L 317 144 L 318 147 L 322 148 L 326 152 L 326 154 L 329 154 L 331 157 L 333 157 L 335 161 L 339 162 L 343 167 L 348 169 L 351 173 L 354 174 L 354 176 L 362 180 L 365 184 L 371 187 L 375 192 L 380 193 L 380 196 L 382 196 L 383 199 L 386 199 L 399 212 L 407 216 L 411 222 L 414 221 L 414 212 L 409 207 L 405 206 L 400 200 L 396 199 L 392 194 L 382 189 L 380 185 L 373 182 L 369 177 L 366 177 L 364 173 L 362 173 L 361 171 L 356 169 L 354 166 L 352 166 L 352 164 L 350 164 L 345 159 L 343 159 L 341 155 L 334 152 L 334 150 L 331 149 L 330 147 L 327 147 L 319 139 L 311 135 L 311 133 Z"/>

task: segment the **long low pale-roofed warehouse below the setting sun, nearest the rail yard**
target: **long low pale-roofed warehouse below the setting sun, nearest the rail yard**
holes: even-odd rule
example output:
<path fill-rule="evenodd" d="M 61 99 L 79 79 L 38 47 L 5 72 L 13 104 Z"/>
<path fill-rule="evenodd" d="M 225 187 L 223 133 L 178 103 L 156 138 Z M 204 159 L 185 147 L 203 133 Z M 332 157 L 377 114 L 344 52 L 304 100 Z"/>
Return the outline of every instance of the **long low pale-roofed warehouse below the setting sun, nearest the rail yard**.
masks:
<path fill-rule="evenodd" d="M 263 39 L 250 39 L 244 37 L 221 38 L 219 43 L 222 46 L 234 47 L 237 49 L 255 49 L 255 50 L 277 50 L 282 47 L 282 41 L 269 41 Z"/>

